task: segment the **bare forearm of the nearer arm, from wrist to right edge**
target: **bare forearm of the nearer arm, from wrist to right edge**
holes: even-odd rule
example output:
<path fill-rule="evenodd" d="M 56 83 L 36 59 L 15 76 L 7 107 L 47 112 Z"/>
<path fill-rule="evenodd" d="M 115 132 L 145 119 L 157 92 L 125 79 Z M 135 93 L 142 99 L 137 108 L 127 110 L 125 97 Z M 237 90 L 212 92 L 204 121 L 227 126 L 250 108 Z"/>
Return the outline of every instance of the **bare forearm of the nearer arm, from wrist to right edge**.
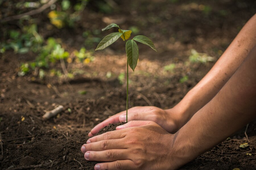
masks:
<path fill-rule="evenodd" d="M 183 163 L 217 145 L 256 117 L 256 47 L 218 94 L 175 135 Z"/>

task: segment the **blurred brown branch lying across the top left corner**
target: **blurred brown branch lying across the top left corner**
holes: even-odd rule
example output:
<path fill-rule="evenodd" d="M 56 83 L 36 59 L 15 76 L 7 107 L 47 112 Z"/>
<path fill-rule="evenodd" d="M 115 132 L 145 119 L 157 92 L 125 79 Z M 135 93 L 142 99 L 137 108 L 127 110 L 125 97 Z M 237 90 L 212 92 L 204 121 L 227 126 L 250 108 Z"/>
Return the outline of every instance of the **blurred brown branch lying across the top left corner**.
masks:
<path fill-rule="evenodd" d="M 11 21 L 11 20 L 19 20 L 20 18 L 26 17 L 26 16 L 31 16 L 34 14 L 38 14 L 40 12 L 43 12 L 46 8 L 49 8 L 52 4 L 54 4 L 55 2 L 57 2 L 58 0 L 49 0 L 48 3 L 42 5 L 42 7 L 35 9 L 35 10 L 31 10 L 29 12 L 25 12 L 23 14 L 19 14 L 19 15 L 15 15 L 15 16 L 8 16 L 6 18 L 3 18 L 3 20 L 1 20 L 0 22 L 7 22 L 7 21 Z"/>

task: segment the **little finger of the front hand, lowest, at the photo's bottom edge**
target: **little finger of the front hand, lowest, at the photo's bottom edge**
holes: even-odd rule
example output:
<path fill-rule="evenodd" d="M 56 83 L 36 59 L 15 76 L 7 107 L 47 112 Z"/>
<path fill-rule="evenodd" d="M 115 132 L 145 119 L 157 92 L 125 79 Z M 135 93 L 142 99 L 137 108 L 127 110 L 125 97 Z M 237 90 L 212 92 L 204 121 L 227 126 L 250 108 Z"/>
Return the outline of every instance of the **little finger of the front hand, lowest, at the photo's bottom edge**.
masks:
<path fill-rule="evenodd" d="M 118 160 L 114 162 L 98 163 L 94 166 L 95 170 L 131 170 L 135 169 L 135 165 L 132 160 Z"/>

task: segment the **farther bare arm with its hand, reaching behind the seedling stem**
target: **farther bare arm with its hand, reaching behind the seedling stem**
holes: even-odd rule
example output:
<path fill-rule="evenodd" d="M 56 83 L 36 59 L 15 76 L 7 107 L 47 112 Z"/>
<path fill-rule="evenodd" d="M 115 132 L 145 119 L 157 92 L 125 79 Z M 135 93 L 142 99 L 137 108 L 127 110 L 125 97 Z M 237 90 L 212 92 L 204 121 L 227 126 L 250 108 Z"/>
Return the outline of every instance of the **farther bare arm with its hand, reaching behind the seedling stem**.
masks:
<path fill-rule="evenodd" d="M 133 107 L 128 110 L 128 121 L 154 121 L 168 132 L 175 132 L 207 104 L 235 73 L 245 57 L 256 45 L 256 14 L 244 25 L 236 38 L 204 78 L 171 109 Z M 120 112 L 96 125 L 88 134 L 95 135 L 110 123 L 125 122 L 126 111 Z"/>

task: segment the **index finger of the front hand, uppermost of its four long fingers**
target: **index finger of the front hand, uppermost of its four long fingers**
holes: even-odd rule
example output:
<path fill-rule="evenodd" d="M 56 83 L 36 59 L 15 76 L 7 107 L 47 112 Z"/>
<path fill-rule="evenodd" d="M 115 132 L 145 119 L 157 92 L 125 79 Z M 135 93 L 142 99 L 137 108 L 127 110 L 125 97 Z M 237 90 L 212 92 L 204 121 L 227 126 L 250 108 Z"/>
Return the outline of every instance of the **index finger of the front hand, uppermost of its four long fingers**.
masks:
<path fill-rule="evenodd" d="M 125 135 L 126 134 L 122 130 L 114 130 L 114 131 L 103 133 L 101 135 L 91 137 L 90 139 L 87 140 L 86 143 L 88 144 L 88 143 L 98 142 L 98 141 L 108 140 L 108 139 L 121 139 L 125 137 Z"/>

